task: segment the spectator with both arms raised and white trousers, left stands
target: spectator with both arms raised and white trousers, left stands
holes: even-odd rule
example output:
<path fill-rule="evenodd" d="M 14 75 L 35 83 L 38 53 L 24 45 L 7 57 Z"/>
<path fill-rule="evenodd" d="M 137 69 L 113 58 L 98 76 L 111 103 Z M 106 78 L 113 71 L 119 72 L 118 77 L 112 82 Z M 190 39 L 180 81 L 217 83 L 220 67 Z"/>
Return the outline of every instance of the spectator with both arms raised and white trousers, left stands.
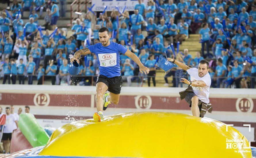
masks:
<path fill-rule="evenodd" d="M 20 43 L 20 39 L 16 40 L 15 42 L 15 47 L 17 47 L 19 49 L 19 56 L 18 56 L 18 61 L 20 59 L 22 59 L 23 63 L 27 63 L 27 51 L 28 51 L 28 41 L 26 40 L 26 38 L 24 38 L 24 41 L 21 41 Z"/>

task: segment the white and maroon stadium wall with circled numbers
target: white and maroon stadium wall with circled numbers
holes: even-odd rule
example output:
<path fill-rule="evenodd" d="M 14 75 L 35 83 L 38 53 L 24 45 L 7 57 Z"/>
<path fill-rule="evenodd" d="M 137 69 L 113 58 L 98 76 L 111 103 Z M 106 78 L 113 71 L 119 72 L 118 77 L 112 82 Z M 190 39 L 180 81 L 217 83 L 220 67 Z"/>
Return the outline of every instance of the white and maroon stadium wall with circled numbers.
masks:
<path fill-rule="evenodd" d="M 111 104 L 104 115 L 136 111 L 163 111 L 192 114 L 179 91 L 185 88 L 123 87 L 118 105 Z M 43 127 L 58 128 L 74 120 L 92 118 L 96 111 L 95 86 L 1 85 L 0 106 L 30 106 Z M 213 112 L 209 117 L 233 124 L 251 142 L 256 138 L 256 89 L 211 88 Z M 244 125 L 250 125 L 249 127 Z"/>

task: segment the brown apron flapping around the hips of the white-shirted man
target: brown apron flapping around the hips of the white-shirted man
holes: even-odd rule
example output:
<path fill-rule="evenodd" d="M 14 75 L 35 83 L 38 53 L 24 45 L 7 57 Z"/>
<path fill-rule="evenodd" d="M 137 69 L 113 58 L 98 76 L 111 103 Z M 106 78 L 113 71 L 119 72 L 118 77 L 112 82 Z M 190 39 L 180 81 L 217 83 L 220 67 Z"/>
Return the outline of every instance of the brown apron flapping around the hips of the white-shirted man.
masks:
<path fill-rule="evenodd" d="M 189 92 L 194 93 L 193 88 L 191 86 L 188 86 L 186 90 L 179 92 L 180 99 L 181 100 L 184 99 Z M 200 117 L 204 117 L 206 114 L 206 111 L 208 111 L 209 113 L 212 113 L 213 111 L 213 107 L 211 103 L 204 103 L 200 100 L 198 100 L 198 107 L 200 109 Z"/>

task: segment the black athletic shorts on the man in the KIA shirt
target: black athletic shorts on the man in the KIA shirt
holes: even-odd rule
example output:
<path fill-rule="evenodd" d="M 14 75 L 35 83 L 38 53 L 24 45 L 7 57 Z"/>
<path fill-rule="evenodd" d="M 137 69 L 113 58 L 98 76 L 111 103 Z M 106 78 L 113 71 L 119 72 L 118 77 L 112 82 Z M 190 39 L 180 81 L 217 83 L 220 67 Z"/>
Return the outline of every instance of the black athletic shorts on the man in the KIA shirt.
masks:
<path fill-rule="evenodd" d="M 114 94 L 120 94 L 123 83 L 122 76 L 108 78 L 103 75 L 98 75 L 96 84 L 103 82 L 108 86 L 108 91 Z"/>

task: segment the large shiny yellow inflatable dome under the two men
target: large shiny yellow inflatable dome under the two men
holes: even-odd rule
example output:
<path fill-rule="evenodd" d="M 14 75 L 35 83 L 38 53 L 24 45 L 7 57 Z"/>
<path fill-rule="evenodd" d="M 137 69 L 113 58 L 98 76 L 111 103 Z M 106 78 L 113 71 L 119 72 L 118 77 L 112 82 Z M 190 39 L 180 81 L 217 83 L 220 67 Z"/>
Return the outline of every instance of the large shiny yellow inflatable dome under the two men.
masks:
<path fill-rule="evenodd" d="M 58 128 L 39 155 L 80 157 L 252 157 L 236 129 L 209 118 L 169 112 L 106 116 Z M 238 142 L 239 141 L 239 142 Z M 235 144 L 236 143 L 236 144 Z"/>

